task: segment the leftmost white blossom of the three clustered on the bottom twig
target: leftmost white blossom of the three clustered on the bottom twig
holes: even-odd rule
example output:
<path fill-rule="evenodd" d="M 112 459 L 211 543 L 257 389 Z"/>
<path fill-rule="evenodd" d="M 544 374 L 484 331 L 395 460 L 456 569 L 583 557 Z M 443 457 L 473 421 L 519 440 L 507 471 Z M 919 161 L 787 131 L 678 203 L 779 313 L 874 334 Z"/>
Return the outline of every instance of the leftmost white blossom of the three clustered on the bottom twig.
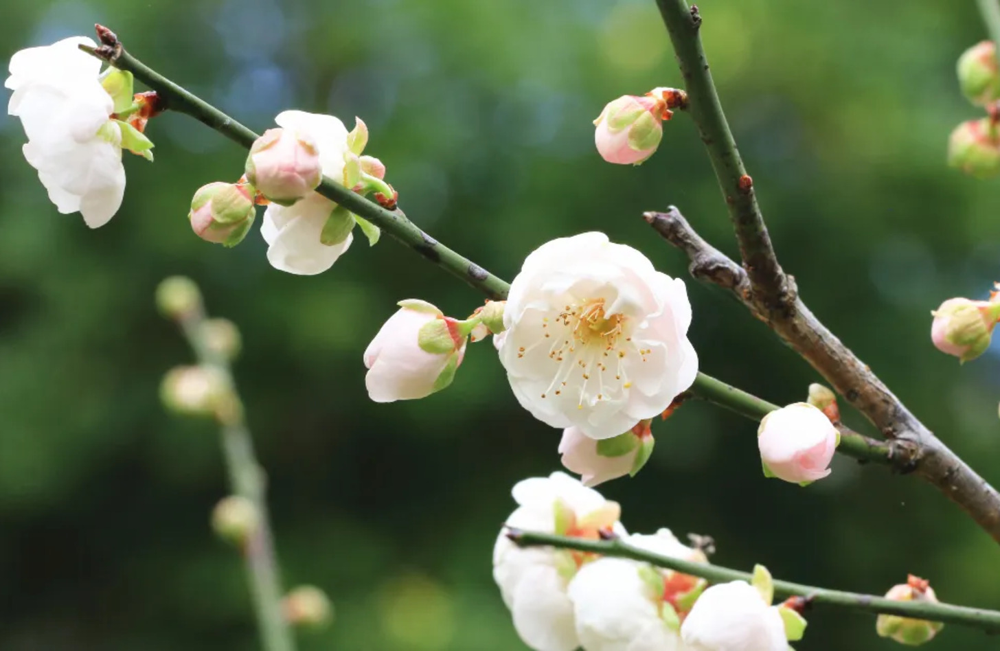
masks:
<path fill-rule="evenodd" d="M 518 482 L 512 529 L 596 539 L 600 531 L 625 535 L 620 509 L 597 491 L 556 472 Z M 580 646 L 567 589 L 589 555 L 545 547 L 520 548 L 501 531 L 493 549 L 493 578 L 511 611 L 514 628 L 535 651 L 572 651 Z"/>

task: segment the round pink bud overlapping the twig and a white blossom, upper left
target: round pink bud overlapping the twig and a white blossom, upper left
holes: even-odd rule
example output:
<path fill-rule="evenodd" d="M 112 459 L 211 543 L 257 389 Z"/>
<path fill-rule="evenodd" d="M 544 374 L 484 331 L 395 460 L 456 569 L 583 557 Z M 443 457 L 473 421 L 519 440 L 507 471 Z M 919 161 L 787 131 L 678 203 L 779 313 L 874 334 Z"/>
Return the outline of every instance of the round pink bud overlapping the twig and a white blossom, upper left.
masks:
<path fill-rule="evenodd" d="M 268 129 L 257 138 L 246 173 L 261 194 L 282 206 L 291 206 L 323 180 L 316 141 L 292 129 Z"/>

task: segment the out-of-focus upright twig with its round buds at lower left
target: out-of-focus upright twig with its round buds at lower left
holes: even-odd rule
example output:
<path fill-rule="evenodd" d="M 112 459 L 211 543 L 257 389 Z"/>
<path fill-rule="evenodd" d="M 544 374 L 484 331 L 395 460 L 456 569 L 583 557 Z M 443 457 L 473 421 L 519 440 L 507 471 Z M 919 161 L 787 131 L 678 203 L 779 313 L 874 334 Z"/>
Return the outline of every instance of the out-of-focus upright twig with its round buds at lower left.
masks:
<path fill-rule="evenodd" d="M 216 507 L 213 526 L 243 553 L 262 647 L 265 651 L 295 651 L 282 604 L 264 472 L 254 455 L 229 366 L 239 349 L 239 331 L 230 321 L 206 317 L 201 292 L 188 278 L 167 278 L 157 288 L 156 298 L 160 311 L 181 327 L 198 361 L 197 366 L 178 367 L 167 374 L 164 402 L 178 413 L 218 421 L 233 495 Z"/>

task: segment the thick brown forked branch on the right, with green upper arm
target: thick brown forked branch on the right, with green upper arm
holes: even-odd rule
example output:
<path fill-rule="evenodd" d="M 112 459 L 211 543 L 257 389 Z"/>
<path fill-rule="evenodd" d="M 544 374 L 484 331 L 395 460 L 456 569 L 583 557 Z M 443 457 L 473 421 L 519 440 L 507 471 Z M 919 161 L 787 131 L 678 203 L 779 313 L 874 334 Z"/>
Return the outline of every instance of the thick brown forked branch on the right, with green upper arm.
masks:
<path fill-rule="evenodd" d="M 995 2 L 981 0 L 980 4 L 984 3 L 996 9 Z M 687 82 L 687 112 L 701 133 L 729 207 L 743 267 L 707 247 L 676 210 L 670 224 L 678 235 L 665 236 L 689 257 L 695 256 L 692 265 L 702 268 L 703 280 L 708 278 L 734 291 L 757 318 L 809 362 L 874 423 L 886 439 L 905 445 L 909 450 L 905 465 L 935 485 L 1000 542 L 1000 494 L 910 413 L 868 365 L 830 332 L 799 298 L 793 279 L 785 275 L 777 262 L 757 206 L 753 181 L 746 175 L 723 114 L 701 46 L 702 17 L 697 7 L 688 7 L 685 0 L 657 0 L 657 4 Z M 660 217 L 659 223 L 668 224 L 663 219 Z M 655 216 L 651 223 L 656 225 Z M 692 248 L 692 244 L 697 243 L 700 244 Z M 698 256 L 708 260 L 711 272 L 704 268 Z"/>

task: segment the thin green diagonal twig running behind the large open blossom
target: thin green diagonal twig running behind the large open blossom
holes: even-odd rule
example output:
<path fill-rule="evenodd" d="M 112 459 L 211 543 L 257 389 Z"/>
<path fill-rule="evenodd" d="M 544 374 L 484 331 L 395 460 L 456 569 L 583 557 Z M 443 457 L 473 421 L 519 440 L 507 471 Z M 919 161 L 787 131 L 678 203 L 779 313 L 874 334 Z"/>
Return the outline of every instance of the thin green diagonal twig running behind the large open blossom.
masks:
<path fill-rule="evenodd" d="M 156 91 L 166 108 L 190 115 L 246 149 L 249 149 L 253 141 L 257 139 L 256 133 L 149 68 L 129 54 L 124 47 L 121 47 L 121 44 L 118 44 L 116 48 L 109 49 L 93 50 L 86 47 L 82 47 L 82 49 L 108 61 L 120 70 L 131 72 L 136 79 Z M 369 220 L 395 239 L 414 249 L 450 274 L 461 278 L 489 298 L 502 300 L 507 297 L 507 292 L 510 289 L 509 283 L 420 230 L 399 209 L 386 210 L 377 203 L 351 192 L 326 177 L 317 188 L 317 192 L 344 206 L 354 214 Z M 752 420 L 760 420 L 769 411 L 777 409 L 776 405 L 731 387 L 704 373 L 698 374 L 690 391 L 697 396 L 704 397 L 709 402 L 731 409 Z M 868 439 L 860 434 L 850 432 L 850 430 L 842 430 L 841 445 L 838 449 L 844 454 L 863 461 L 888 463 L 891 456 L 888 444 Z"/>

